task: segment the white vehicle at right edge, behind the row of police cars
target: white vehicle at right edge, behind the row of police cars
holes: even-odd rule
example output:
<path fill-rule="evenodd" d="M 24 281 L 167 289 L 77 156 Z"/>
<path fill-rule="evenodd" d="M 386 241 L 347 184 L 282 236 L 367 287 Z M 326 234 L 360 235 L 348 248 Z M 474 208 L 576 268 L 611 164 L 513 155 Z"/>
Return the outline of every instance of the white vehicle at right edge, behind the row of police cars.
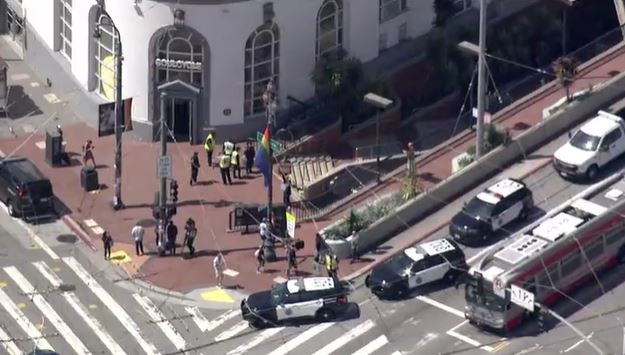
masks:
<path fill-rule="evenodd" d="M 599 168 L 625 152 L 625 122 L 605 111 L 569 136 L 553 154 L 553 166 L 563 177 L 593 180 Z"/>

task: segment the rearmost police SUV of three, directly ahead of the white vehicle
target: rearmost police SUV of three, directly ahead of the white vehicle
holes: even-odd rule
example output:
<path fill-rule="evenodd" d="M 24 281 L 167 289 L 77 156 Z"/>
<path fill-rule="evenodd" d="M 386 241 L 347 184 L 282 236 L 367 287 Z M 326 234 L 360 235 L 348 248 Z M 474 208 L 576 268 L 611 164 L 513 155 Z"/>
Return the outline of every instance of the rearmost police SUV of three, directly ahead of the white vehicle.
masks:
<path fill-rule="evenodd" d="M 466 203 L 449 223 L 449 233 L 464 244 L 486 241 L 493 232 L 516 219 L 525 219 L 534 207 L 532 192 L 515 179 L 504 179 Z"/>

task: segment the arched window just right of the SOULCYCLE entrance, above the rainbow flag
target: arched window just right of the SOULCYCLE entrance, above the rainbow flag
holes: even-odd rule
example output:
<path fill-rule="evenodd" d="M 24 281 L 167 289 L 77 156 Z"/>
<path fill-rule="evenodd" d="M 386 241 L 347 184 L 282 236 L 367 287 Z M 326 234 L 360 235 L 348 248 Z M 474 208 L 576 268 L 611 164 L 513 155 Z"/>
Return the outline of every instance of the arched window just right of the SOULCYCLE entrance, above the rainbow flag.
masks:
<path fill-rule="evenodd" d="M 275 23 L 260 26 L 245 44 L 245 102 L 243 113 L 250 116 L 264 111 L 263 93 L 273 79 L 278 91 L 280 34 Z"/>

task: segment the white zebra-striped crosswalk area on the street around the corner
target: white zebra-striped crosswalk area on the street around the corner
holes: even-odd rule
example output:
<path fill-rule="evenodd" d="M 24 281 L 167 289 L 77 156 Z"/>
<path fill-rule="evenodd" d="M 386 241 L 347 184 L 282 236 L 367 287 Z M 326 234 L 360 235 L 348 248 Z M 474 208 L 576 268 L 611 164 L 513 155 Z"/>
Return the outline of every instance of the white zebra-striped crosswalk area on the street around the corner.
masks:
<path fill-rule="evenodd" d="M 390 354 L 371 319 L 252 330 L 240 310 L 120 288 L 75 257 L 0 267 L 0 354 Z"/>

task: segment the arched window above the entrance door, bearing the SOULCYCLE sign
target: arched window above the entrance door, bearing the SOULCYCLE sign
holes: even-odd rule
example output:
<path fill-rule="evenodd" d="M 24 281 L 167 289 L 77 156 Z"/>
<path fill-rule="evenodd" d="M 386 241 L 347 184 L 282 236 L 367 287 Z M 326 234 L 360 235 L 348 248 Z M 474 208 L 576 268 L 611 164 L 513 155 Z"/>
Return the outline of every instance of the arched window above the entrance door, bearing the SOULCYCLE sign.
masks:
<path fill-rule="evenodd" d="M 166 63 L 182 62 L 180 65 L 157 65 L 159 84 L 180 79 L 202 87 L 204 47 L 200 37 L 185 29 L 172 28 L 158 39 L 156 47 L 157 59 Z"/>

